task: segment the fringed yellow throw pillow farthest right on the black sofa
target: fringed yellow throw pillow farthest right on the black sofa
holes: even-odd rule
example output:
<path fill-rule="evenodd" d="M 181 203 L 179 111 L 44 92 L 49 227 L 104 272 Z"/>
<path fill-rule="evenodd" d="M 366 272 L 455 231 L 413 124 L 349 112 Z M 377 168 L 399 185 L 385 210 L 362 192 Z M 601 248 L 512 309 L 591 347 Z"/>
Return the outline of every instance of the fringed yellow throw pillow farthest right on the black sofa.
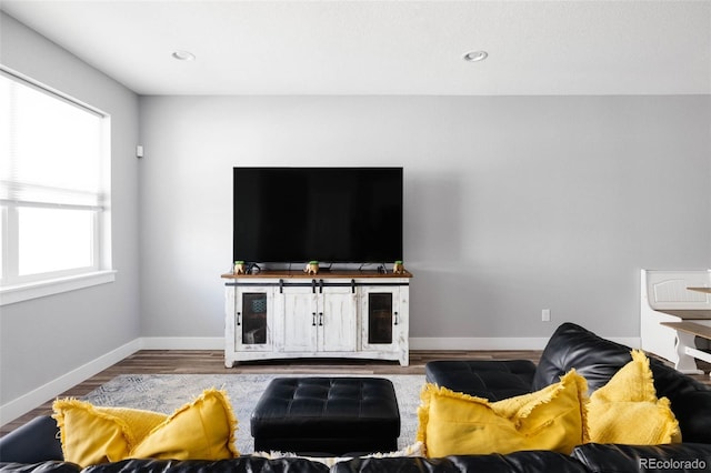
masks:
<path fill-rule="evenodd" d="M 667 397 L 657 399 L 652 371 L 644 352 L 632 351 L 632 361 L 590 396 L 590 442 L 657 445 L 681 442 L 679 422 Z"/>

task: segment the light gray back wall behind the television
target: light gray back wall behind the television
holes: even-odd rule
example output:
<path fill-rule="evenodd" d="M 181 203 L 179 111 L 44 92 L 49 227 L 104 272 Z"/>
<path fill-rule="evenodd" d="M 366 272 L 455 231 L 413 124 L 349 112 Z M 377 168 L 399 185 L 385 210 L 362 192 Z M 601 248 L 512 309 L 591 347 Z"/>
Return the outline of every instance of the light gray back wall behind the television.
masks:
<path fill-rule="evenodd" d="M 232 167 L 382 164 L 411 336 L 638 338 L 640 269 L 711 265 L 710 130 L 710 97 L 143 97 L 142 334 L 222 334 Z"/>

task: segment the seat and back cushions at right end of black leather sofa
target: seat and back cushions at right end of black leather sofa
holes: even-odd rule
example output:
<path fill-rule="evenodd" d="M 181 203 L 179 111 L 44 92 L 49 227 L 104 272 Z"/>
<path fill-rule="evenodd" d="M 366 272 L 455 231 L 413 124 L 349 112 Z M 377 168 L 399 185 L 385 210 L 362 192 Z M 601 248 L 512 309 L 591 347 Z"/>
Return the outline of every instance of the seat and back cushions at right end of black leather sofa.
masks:
<path fill-rule="evenodd" d="M 434 361 L 427 364 L 425 376 L 453 391 L 498 401 L 538 391 L 575 369 L 592 393 L 630 362 L 630 350 L 580 325 L 563 323 L 549 340 L 538 365 L 522 360 Z M 683 442 L 711 444 L 711 389 L 653 356 L 650 369 L 657 396 L 671 401 Z"/>

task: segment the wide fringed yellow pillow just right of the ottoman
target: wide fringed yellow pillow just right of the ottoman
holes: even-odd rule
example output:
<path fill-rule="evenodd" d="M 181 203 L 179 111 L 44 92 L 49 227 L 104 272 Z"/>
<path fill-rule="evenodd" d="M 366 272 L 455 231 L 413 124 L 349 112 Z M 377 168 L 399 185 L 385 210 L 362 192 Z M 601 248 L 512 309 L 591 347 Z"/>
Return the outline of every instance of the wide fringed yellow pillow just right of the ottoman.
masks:
<path fill-rule="evenodd" d="M 531 394 L 494 403 L 425 384 L 417 440 L 429 457 L 552 450 L 570 454 L 583 443 L 588 383 L 571 370 Z"/>

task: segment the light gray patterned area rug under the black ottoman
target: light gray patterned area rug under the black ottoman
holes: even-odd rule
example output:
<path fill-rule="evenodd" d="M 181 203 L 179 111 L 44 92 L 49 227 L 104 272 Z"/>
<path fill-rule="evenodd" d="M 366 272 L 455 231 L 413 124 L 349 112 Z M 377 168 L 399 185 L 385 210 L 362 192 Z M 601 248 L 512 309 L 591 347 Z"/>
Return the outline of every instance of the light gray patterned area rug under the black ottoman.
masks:
<path fill-rule="evenodd" d="M 166 414 L 192 401 L 203 390 L 226 390 L 238 420 L 237 447 L 241 453 L 254 450 L 249 420 L 270 380 L 303 374 L 122 374 L 90 392 L 82 399 L 96 405 L 143 409 Z M 346 376 L 344 374 L 313 374 L 313 376 Z M 348 376 L 352 376 L 348 374 Z M 423 375 L 394 374 L 369 378 L 385 378 L 392 381 L 400 409 L 400 439 L 398 447 L 414 443 L 417 433 L 417 409 Z"/>

